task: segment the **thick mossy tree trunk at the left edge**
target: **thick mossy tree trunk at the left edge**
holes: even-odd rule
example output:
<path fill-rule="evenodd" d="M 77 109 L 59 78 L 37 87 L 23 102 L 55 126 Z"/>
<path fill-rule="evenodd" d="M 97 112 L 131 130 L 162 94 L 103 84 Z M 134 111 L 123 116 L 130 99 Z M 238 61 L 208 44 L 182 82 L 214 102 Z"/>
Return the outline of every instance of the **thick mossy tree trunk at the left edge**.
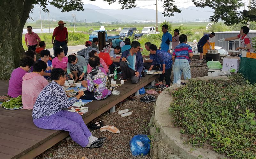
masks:
<path fill-rule="evenodd" d="M 1 0 L 0 80 L 9 79 L 13 69 L 20 66 L 22 31 L 32 5 L 33 0 Z"/>

